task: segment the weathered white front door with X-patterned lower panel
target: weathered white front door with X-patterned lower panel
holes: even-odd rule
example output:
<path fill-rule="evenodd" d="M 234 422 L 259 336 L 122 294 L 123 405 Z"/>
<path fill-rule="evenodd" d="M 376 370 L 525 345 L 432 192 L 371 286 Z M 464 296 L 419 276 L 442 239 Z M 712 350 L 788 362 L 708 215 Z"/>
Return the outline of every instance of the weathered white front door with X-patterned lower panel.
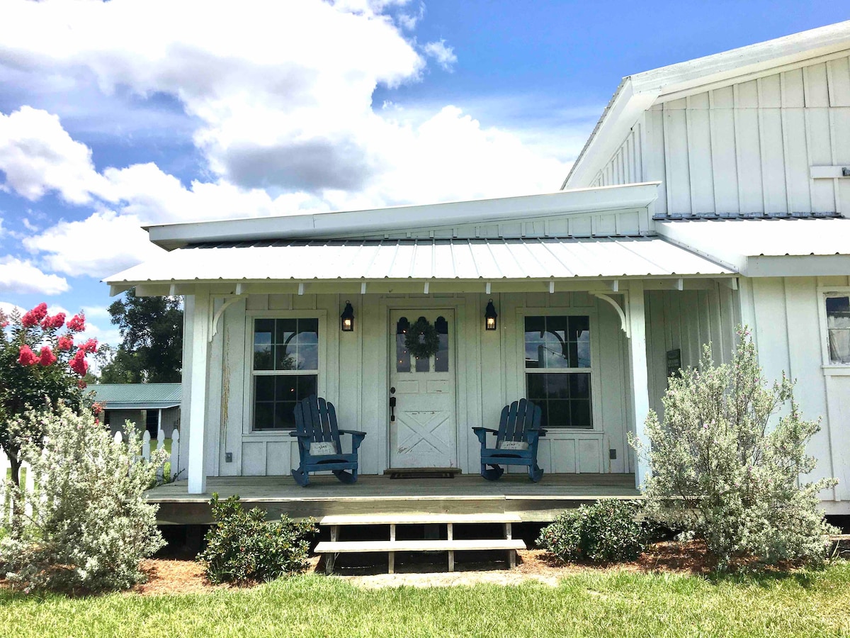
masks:
<path fill-rule="evenodd" d="M 405 347 L 411 326 L 425 317 L 439 337 L 437 353 L 416 359 Z M 389 331 L 391 467 L 456 467 L 455 313 L 450 309 L 392 310 Z"/>

